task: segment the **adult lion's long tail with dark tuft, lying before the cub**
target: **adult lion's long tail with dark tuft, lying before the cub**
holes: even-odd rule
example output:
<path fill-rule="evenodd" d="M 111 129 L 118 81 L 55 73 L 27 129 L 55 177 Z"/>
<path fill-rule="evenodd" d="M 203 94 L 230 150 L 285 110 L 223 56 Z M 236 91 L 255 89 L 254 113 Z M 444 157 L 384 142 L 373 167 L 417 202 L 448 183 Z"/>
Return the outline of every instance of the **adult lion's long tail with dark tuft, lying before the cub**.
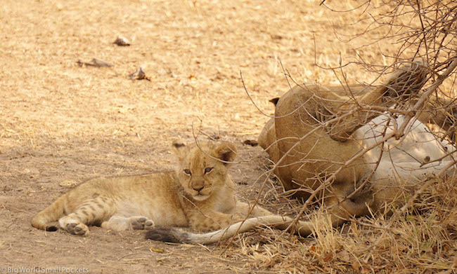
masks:
<path fill-rule="evenodd" d="M 281 217 L 277 215 L 262 216 L 246 219 L 236 224 L 232 224 L 227 228 L 219 229 L 209 233 L 191 233 L 179 228 L 158 227 L 146 233 L 146 239 L 160 240 L 162 242 L 178 242 L 188 244 L 212 244 L 220 240 L 226 240 L 233 237 L 237 233 L 250 231 L 257 226 L 271 226 L 274 228 L 285 230 L 293 220 L 289 217 Z M 311 233 L 311 226 L 307 222 L 300 221 L 297 230 L 300 235 L 308 235 Z"/>

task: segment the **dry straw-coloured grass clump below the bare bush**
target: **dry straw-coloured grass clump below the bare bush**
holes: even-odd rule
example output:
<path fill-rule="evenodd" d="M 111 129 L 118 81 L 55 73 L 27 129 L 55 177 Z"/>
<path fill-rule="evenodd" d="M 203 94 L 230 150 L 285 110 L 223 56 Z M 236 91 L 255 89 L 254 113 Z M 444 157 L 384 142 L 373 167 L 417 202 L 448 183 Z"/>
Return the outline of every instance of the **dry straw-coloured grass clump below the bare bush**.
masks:
<path fill-rule="evenodd" d="M 270 204 L 275 207 L 281 193 L 270 195 L 276 197 Z M 454 181 L 435 181 L 388 231 L 389 216 L 358 218 L 333 228 L 328 214 L 317 210 L 309 216 L 315 224 L 311 238 L 265 228 L 232 242 L 224 256 L 247 259 L 243 270 L 271 273 L 455 273 L 456 197 Z M 291 203 L 281 212 L 297 214 L 300 205 Z"/>

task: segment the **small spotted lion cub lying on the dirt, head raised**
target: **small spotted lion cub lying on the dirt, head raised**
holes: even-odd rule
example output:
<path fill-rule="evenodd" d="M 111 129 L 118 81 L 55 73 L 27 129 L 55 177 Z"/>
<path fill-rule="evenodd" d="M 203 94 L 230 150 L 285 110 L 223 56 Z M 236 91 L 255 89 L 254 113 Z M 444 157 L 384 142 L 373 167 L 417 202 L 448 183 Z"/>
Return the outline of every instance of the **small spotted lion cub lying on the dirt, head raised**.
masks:
<path fill-rule="evenodd" d="M 233 144 L 174 142 L 172 149 L 178 158 L 175 172 L 91 179 L 39 212 L 32 226 L 84 236 L 90 225 L 114 231 L 153 226 L 214 231 L 245 217 L 249 206 L 236 200 L 227 174 L 236 157 Z M 271 213 L 255 207 L 252 214 Z"/>

